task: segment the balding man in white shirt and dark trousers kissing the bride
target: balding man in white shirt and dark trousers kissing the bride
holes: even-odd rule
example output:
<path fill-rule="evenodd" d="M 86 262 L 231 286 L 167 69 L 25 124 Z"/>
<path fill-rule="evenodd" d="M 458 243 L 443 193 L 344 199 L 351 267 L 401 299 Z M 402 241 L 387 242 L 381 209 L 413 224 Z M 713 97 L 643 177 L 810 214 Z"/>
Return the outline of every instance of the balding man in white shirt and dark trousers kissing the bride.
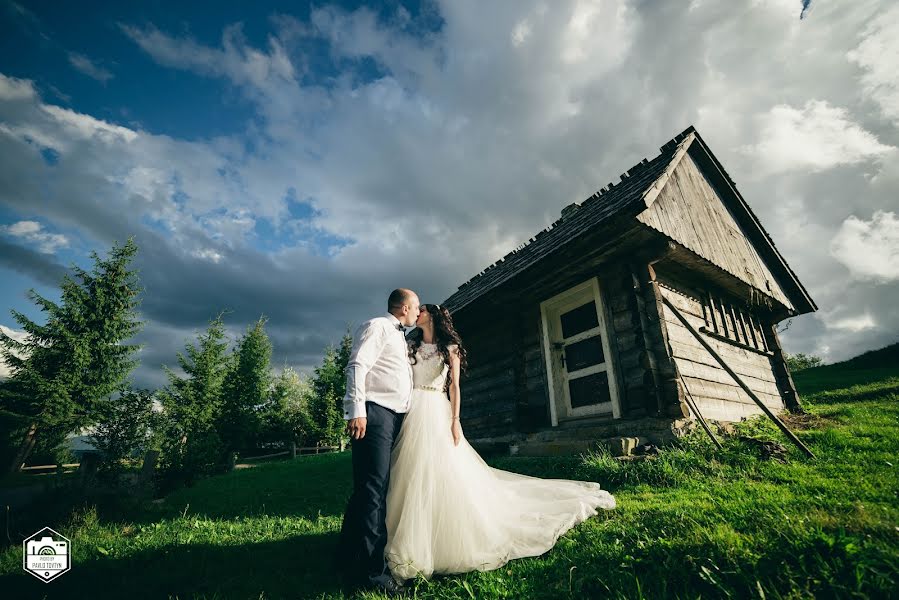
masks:
<path fill-rule="evenodd" d="M 353 439 L 353 494 L 343 517 L 335 566 L 349 583 L 389 595 L 401 591 L 384 558 L 390 451 L 412 396 L 404 327 L 415 325 L 418 313 L 415 292 L 394 290 L 387 299 L 387 314 L 356 330 L 346 368 L 343 418 Z"/>

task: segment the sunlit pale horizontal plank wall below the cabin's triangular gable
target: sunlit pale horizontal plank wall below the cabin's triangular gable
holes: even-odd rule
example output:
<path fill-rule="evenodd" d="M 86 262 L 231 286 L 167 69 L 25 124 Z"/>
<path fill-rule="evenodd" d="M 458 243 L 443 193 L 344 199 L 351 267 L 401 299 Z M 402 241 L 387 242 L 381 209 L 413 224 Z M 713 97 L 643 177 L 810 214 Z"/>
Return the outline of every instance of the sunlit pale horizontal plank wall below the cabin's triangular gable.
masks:
<path fill-rule="evenodd" d="M 691 286 L 673 282 L 660 275 L 660 291 L 697 330 L 707 325 L 700 293 Z M 761 409 L 737 385 L 736 381 L 718 364 L 709 352 L 691 334 L 667 306 L 663 306 L 664 325 L 668 335 L 671 356 L 683 383 L 696 401 L 702 415 L 708 419 L 736 421 L 741 417 L 759 414 Z M 741 330 L 740 320 L 734 321 Z M 738 338 L 742 340 L 742 337 Z M 784 408 L 784 399 L 778 383 L 775 357 L 771 353 L 748 347 L 741 342 L 727 342 L 711 335 L 705 341 L 715 349 L 728 366 L 768 407 L 774 411 Z"/>

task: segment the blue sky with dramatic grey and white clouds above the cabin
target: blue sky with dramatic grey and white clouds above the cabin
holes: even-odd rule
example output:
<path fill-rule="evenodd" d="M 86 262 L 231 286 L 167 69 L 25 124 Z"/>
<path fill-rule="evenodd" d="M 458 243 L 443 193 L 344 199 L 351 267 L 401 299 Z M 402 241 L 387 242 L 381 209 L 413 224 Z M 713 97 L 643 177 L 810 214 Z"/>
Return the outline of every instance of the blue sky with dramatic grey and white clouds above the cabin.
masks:
<path fill-rule="evenodd" d="M 899 339 L 899 4 L 0 0 L 0 326 L 133 236 L 134 382 L 226 311 L 308 372 L 694 125 L 819 310 Z M 489 318 L 485 316 L 485 318 Z"/>

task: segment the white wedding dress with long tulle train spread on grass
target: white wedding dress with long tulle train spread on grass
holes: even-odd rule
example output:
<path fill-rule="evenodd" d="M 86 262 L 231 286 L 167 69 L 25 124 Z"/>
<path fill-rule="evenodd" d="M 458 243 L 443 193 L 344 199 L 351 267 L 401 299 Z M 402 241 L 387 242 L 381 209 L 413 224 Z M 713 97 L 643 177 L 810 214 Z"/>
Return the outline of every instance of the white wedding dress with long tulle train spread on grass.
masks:
<path fill-rule="evenodd" d="M 598 483 L 494 469 L 464 437 L 455 446 L 443 391 L 449 369 L 436 349 L 419 350 L 412 405 L 391 454 L 384 554 L 396 578 L 489 571 L 538 556 L 597 508 L 615 508 Z"/>

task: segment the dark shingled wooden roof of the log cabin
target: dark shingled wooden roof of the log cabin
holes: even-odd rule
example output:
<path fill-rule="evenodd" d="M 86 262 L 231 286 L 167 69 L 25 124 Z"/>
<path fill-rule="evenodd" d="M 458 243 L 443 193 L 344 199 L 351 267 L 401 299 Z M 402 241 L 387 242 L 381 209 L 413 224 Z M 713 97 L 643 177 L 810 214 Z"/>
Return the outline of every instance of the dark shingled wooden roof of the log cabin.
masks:
<path fill-rule="evenodd" d="M 814 301 L 777 251 L 771 237 L 737 191 L 736 184 L 692 125 L 662 146 L 658 156 L 652 160 L 644 158 L 623 173 L 619 183 L 603 187 L 580 205 L 575 205 L 577 210 L 572 210 L 574 206 L 566 207 L 563 218 L 462 284 L 443 304 L 452 311 L 459 310 L 584 232 L 600 228 L 614 217 L 636 217 L 653 203 L 688 149 L 691 153 L 699 151 L 707 159 L 713 179 L 719 180 L 716 187 L 720 190 L 722 201 L 739 217 L 746 237 L 783 286 L 797 314 L 816 310 Z"/>

